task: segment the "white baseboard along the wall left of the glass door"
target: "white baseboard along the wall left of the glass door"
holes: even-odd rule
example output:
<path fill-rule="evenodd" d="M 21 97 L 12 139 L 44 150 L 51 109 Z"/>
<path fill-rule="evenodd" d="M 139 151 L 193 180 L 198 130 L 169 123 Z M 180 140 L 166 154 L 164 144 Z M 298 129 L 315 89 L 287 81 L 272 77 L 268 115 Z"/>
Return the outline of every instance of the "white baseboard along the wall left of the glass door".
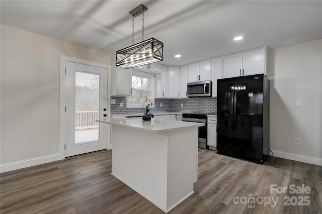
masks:
<path fill-rule="evenodd" d="M 0 165 L 0 173 L 8 172 L 16 169 L 22 169 L 25 167 L 36 166 L 43 163 L 49 163 L 52 161 L 62 160 L 64 157 L 60 154 L 47 155 L 37 158 L 31 158 L 11 163 L 5 163 Z"/>

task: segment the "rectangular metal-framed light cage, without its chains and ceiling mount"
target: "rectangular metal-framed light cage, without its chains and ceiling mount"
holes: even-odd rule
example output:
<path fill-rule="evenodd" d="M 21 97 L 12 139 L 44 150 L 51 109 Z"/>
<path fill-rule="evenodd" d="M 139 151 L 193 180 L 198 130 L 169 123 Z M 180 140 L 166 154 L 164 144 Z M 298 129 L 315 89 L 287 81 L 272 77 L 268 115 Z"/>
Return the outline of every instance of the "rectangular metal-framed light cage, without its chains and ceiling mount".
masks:
<path fill-rule="evenodd" d="M 116 66 L 133 68 L 163 60 L 163 43 L 150 38 L 116 52 Z"/>

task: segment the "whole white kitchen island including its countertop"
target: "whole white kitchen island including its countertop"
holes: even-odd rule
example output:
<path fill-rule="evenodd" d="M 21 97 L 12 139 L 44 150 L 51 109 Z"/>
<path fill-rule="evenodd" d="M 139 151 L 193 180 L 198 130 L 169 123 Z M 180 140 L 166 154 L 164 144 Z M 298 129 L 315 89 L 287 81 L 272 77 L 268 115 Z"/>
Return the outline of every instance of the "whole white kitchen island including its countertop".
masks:
<path fill-rule="evenodd" d="M 112 129 L 112 175 L 165 212 L 194 193 L 202 123 L 105 119 Z"/>

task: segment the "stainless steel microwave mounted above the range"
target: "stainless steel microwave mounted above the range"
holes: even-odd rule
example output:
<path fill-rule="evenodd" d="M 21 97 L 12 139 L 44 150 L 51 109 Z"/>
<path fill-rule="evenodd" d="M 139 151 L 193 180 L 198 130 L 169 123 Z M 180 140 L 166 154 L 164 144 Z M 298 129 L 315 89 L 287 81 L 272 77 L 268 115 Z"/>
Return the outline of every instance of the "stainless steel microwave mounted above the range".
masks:
<path fill-rule="evenodd" d="M 187 96 L 211 96 L 211 81 L 198 81 L 187 83 Z"/>

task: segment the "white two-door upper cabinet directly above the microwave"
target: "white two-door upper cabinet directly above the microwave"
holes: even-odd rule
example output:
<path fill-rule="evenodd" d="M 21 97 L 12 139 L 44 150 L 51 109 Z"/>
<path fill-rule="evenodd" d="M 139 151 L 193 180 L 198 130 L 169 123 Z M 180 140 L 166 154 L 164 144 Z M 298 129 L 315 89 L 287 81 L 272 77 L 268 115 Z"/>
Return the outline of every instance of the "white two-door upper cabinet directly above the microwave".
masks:
<path fill-rule="evenodd" d="M 196 62 L 188 65 L 188 82 L 211 79 L 211 60 Z"/>

